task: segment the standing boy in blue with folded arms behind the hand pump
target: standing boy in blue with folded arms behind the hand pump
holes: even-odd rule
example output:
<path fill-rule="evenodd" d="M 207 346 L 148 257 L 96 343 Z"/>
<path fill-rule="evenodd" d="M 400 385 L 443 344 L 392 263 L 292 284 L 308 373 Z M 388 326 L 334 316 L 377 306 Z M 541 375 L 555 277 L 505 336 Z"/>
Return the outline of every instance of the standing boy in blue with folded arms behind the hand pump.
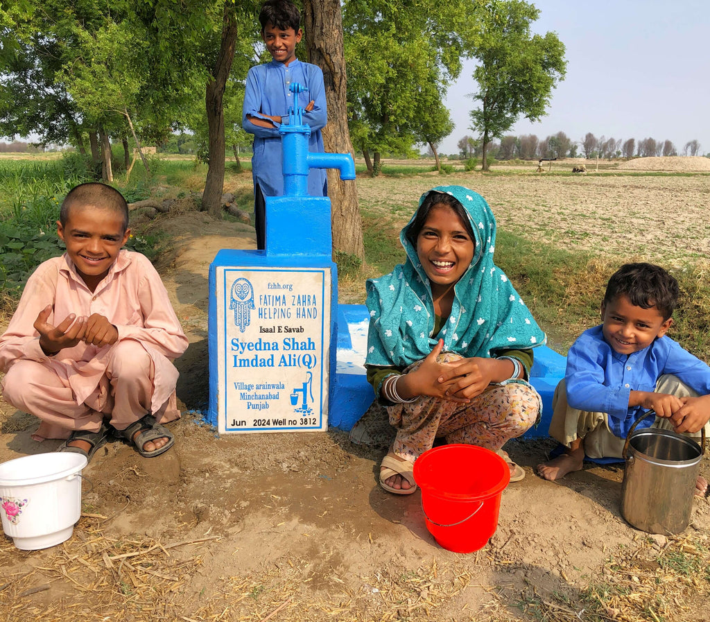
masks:
<path fill-rule="evenodd" d="M 256 245 L 266 247 L 266 204 L 264 197 L 283 195 L 281 137 L 278 129 L 288 124 L 288 109 L 301 107 L 303 123 L 310 126 L 308 151 L 323 153 L 321 129 L 327 123 L 325 87 L 320 67 L 296 58 L 296 45 L 303 31 L 301 16 L 288 0 L 269 0 L 261 8 L 261 38 L 273 60 L 251 67 L 246 77 L 241 124 L 254 135 L 251 173 L 254 181 Z M 292 82 L 307 91 L 290 92 Z M 308 194 L 327 195 L 327 176 L 322 168 L 308 174 Z"/>

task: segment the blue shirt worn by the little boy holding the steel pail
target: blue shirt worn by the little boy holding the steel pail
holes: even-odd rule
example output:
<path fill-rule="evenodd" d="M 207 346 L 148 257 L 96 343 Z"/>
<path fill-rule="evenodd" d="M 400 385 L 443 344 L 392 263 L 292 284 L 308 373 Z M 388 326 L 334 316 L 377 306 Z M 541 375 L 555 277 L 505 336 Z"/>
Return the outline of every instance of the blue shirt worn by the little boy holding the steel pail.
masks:
<path fill-rule="evenodd" d="M 710 394 L 710 367 L 678 342 L 664 335 L 643 350 L 618 354 L 604 339 L 599 324 L 584 331 L 567 353 L 567 403 L 579 410 L 607 413 L 609 429 L 623 438 L 644 410 L 629 408 L 631 391 L 655 391 L 658 379 L 667 373 L 699 395 Z M 649 427 L 652 422 L 652 418 L 645 419 L 638 427 Z"/>

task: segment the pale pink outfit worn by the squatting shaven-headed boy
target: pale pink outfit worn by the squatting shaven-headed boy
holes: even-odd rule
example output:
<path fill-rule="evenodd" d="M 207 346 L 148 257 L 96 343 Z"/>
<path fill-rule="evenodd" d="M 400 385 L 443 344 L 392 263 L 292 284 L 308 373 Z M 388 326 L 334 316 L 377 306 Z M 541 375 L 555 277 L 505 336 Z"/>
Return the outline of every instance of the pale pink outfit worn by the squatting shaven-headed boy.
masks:
<path fill-rule="evenodd" d="M 104 315 L 119 332 L 104 347 L 80 342 L 47 356 L 33 324 L 53 305 L 50 324 L 70 314 Z M 175 398 L 178 370 L 172 359 L 187 338 L 151 262 L 123 250 L 92 292 L 65 253 L 45 261 L 28 279 L 5 334 L 0 371 L 5 398 L 43 422 L 35 433 L 67 438 L 72 430 L 98 430 L 104 415 L 123 430 L 146 413 L 159 422 L 180 417 Z M 136 346 L 139 347 L 136 347 Z"/>

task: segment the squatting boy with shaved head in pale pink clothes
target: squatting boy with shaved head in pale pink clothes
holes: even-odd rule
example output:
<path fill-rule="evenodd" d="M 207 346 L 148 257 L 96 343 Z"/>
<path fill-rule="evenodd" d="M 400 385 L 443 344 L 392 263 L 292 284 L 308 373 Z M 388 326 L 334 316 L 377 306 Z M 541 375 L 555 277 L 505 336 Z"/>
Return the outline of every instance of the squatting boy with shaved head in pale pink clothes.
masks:
<path fill-rule="evenodd" d="M 171 359 L 187 339 L 151 262 L 121 250 L 128 222 L 118 190 L 71 190 L 57 223 L 67 251 L 38 266 L 0 337 L 3 395 L 42 420 L 33 439 L 88 459 L 109 432 L 162 454 L 174 440 L 160 424 L 180 417 Z"/>

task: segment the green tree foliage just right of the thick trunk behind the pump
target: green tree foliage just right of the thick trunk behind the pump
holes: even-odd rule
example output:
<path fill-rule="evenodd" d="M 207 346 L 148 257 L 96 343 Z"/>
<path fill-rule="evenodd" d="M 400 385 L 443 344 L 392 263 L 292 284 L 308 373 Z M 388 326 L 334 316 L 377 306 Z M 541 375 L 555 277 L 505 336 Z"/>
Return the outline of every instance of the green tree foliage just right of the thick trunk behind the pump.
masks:
<path fill-rule="evenodd" d="M 344 2 L 349 129 L 357 149 L 399 153 L 451 132 L 442 100 L 461 71 L 475 11 L 467 0 Z"/>

